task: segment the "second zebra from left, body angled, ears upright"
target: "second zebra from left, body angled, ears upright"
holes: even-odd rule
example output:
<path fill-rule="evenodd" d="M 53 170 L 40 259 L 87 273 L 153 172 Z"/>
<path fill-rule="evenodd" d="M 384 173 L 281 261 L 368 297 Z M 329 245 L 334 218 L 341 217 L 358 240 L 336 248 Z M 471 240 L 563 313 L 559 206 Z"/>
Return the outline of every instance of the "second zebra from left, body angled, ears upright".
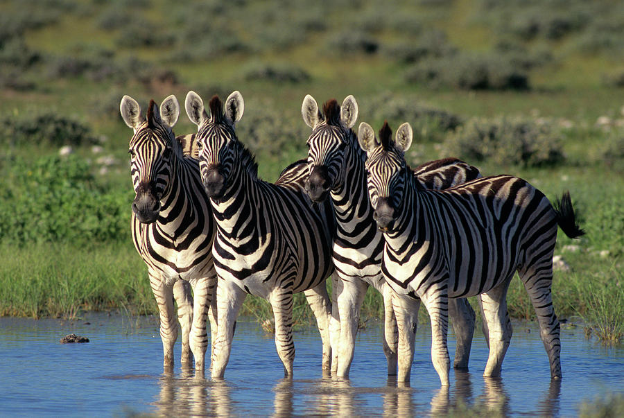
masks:
<path fill-rule="evenodd" d="M 331 204 L 312 204 L 304 191 L 306 162 L 288 166 L 275 184 L 261 180 L 250 151 L 234 131 L 243 115 L 243 96 L 223 102 L 189 92 L 184 104 L 198 125 L 202 180 L 216 218 L 213 245 L 218 275 L 218 336 L 212 376 L 221 378 L 232 349 L 233 323 L 245 296 L 270 302 L 275 345 L 284 375 L 293 375 L 293 294 L 304 292 L 322 337 L 322 369 L 331 367 L 331 303 L 325 279 L 333 272 Z"/>

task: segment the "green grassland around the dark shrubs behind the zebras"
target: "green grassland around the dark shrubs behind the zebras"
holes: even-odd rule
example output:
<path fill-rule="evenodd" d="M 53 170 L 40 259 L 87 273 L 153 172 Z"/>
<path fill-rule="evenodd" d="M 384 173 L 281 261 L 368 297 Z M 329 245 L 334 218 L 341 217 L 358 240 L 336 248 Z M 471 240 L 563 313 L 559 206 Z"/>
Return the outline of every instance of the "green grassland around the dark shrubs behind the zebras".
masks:
<path fill-rule="evenodd" d="M 505 17 L 523 16 L 523 2 L 519 1 L 498 2 L 496 7 L 489 8 L 492 2 L 485 0 L 417 3 L 399 0 L 391 2 L 385 10 L 378 10 L 373 2 L 363 1 L 357 13 L 353 13 L 352 2 L 340 0 L 331 8 L 320 9 L 311 7 L 309 2 L 293 0 L 280 10 L 274 8 L 277 6 L 257 2 L 218 6 L 191 1 L 184 7 L 164 0 L 145 3 L 146 7 L 130 8 L 127 1 L 111 4 L 67 0 L 62 2 L 62 10 L 51 14 L 55 18 L 44 19 L 47 22 L 44 24 L 33 24 L 41 15 L 37 10 L 18 13 L 23 10 L 17 10 L 10 3 L 0 3 L 0 14 L 6 13 L 19 28 L 19 33 L 10 35 L 22 37 L 28 50 L 42 57 L 39 62 L 24 68 L 10 67 L 10 51 L 3 50 L 0 40 L 0 65 L 3 69 L 9 66 L 12 74 L 23 77 L 33 86 L 25 90 L 2 88 L 2 82 L 11 85 L 12 80 L 3 81 L 0 76 L 0 119 L 24 120 L 46 112 L 88 126 L 89 134 L 101 140 L 103 154 L 112 155 L 118 161 L 107 173 L 96 175 L 96 182 L 105 185 L 112 195 L 116 195 L 114 190 L 120 191 L 120 201 L 124 199 L 121 191 L 130 187 L 126 163 L 128 141 L 132 135 L 119 117 L 119 101 L 123 94 L 133 96 L 144 106 L 150 98 L 162 101 L 169 94 L 175 94 L 182 103 L 182 115 L 175 132 L 186 134 L 196 131 L 196 126 L 183 110 L 184 96 L 189 89 L 205 99 L 215 93 L 224 96 L 238 89 L 245 98 L 245 115 L 237 130 L 241 140 L 257 154 L 259 173 L 266 180 L 275 180 L 284 166 L 306 156 L 305 141 L 309 129 L 300 115 L 306 94 L 312 94 L 320 103 L 332 97 L 342 101 L 348 94 L 353 94 L 361 107 L 358 122 L 366 121 L 374 127 L 383 122 L 383 108 L 390 105 L 379 103 L 381 97 L 444 110 L 458 115 L 462 121 L 472 118 L 494 120 L 503 116 L 548 119 L 560 134 L 564 162 L 538 168 L 513 166 L 505 161 L 499 164 L 487 160 L 469 162 L 479 166 L 485 174 L 510 173 L 523 177 L 544 191 L 548 198 L 560 196 L 564 189 L 571 191 L 575 207 L 581 211 L 582 227 L 587 230 L 587 236 L 580 242 L 572 242 L 560 234 L 555 254 L 564 258 L 571 271 L 555 272 L 553 299 L 557 315 L 562 318 L 580 316 L 591 329 L 592 336 L 621 342 L 620 324 L 624 317 L 621 275 L 624 157 L 617 150 L 621 141 L 611 142 L 611 148 L 607 146 L 612 138 L 624 137 L 624 132 L 623 128 L 617 127 L 605 132 L 594 125 L 599 116 L 624 119 L 621 114 L 622 89 L 603 82 L 605 73 L 624 68 L 624 55 L 608 48 L 588 53 L 579 46 L 582 40 L 592 35 L 590 29 L 600 25 L 590 21 L 587 28 L 571 31 L 556 40 L 539 36 L 524 40 L 510 31 L 513 25 L 501 25 L 502 21 L 508 21 Z M 577 8 L 584 7 L 582 1 L 572 3 Z M 621 10 L 616 4 L 609 5 L 592 3 L 587 6 L 588 10 L 593 10 L 589 13 L 591 19 L 608 20 L 611 15 L 616 15 L 611 8 Z M 202 7 L 220 7 L 220 10 L 207 13 Z M 154 40 L 168 41 L 156 46 L 141 42 L 127 46 L 129 44 L 123 42 L 128 40 L 124 38 L 128 36 L 124 28 L 107 30 L 100 24 L 101 17 L 106 14 L 114 21 L 115 13 L 124 19 L 130 16 L 130 22 L 150 22 L 159 28 L 159 37 Z M 275 32 L 263 31 L 262 27 L 266 25 L 263 19 L 283 16 L 283 13 L 288 19 L 271 22 Z M 549 16 L 566 18 L 566 13 L 566 10 L 544 6 L 544 12 L 538 17 L 544 17 L 543 21 L 548 22 Z M 223 35 L 219 31 L 206 31 L 198 35 L 206 42 L 191 42 L 186 27 L 189 19 L 193 21 L 191 27 L 200 28 L 208 26 L 202 23 L 204 17 L 211 19 L 210 26 L 214 23 L 215 28 L 231 30 L 236 35 L 233 42 L 241 42 L 245 48 L 213 55 L 207 50 L 205 56 L 197 53 L 200 46 L 220 45 L 220 35 Z M 293 21 L 291 18 L 297 22 L 296 27 L 289 24 Z M 355 35 L 349 37 L 350 29 L 360 35 L 364 33 L 367 40 L 379 44 L 379 51 L 349 50 L 349 45 L 357 46 L 360 39 Z M 219 39 L 214 38 L 217 35 Z M 622 34 L 609 33 L 609 36 L 612 44 L 621 44 L 618 40 Z M 338 38 L 341 42 L 337 44 Z M 85 40 L 89 40 L 88 46 Z M 422 82 L 408 82 L 406 72 L 412 64 L 401 62 L 391 52 L 400 50 L 395 48 L 397 46 L 423 45 L 447 54 L 435 59 L 445 58 L 452 62 L 453 57 L 472 53 L 495 55 L 501 43 L 507 44 L 509 49 L 521 51 L 523 58 L 532 59 L 544 51 L 550 56 L 527 70 L 531 87 L 528 91 L 433 88 Z M 275 44 L 284 46 L 277 48 Z M 336 48 L 345 48 L 345 45 L 346 49 L 337 53 Z M 109 51 L 110 58 L 102 60 L 98 51 Z M 173 58 L 185 53 L 193 59 Z M 91 62 L 97 69 L 110 64 L 112 76 L 96 78 L 89 72 L 71 77 L 49 76 L 55 60 L 68 56 Z M 124 63 L 129 58 L 140 61 L 128 67 Z M 420 58 L 424 63 L 431 59 L 429 56 Z M 284 64 L 288 65 L 280 67 Z M 285 68 L 286 80 L 293 81 L 250 80 L 246 77 L 250 66 Z M 172 71 L 177 82 L 149 77 L 162 71 Z M 309 78 L 288 77 L 290 73 L 297 76 L 300 71 Z M 371 109 L 370 103 L 379 105 Z M 567 121 L 572 123 L 571 128 L 557 128 L 558 124 Z M 390 122 L 396 127 L 404 121 Z M 413 126 L 418 123 L 408 122 Z M 448 156 L 446 138 L 452 132 L 436 130 L 429 134 L 431 131 L 426 128 L 427 125 L 422 129 L 423 136 L 430 139 L 415 144 L 416 153 L 410 156 L 412 164 Z M 0 143 L 4 143 L 3 139 L 6 138 L 0 138 Z M 42 145 L 8 147 L 6 154 L 10 158 L 0 158 L 3 178 L 12 178 L 6 174 L 14 161 L 31 164 L 42 155 L 57 153 L 55 146 L 40 142 Z M 76 154 L 85 159 L 96 159 L 87 145 L 77 146 Z M 40 186 L 42 190 L 47 189 L 45 184 Z M 12 214 L 11 201 L 6 196 L 5 200 L 3 210 Z M 45 199 L 40 202 L 45 203 Z M 125 216 L 125 213 L 121 210 L 119 216 Z M 129 239 L 125 239 L 128 234 L 125 238 L 80 245 L 70 239 L 64 240 L 62 236 L 53 244 L 35 243 L 36 239 L 15 243 L 1 234 L 0 315 L 72 317 L 83 310 L 110 308 L 155 313 L 146 267 Z M 566 245 L 578 245 L 579 249 L 572 252 L 566 250 Z M 512 317 L 532 319 L 535 315 L 526 291 L 517 279 L 510 286 L 508 305 Z M 426 320 L 426 310 L 420 312 L 422 320 Z M 362 313 L 364 320 L 381 317 L 381 297 L 374 290 L 367 293 Z M 242 314 L 258 317 L 261 322 L 272 317 L 268 303 L 255 297 L 247 298 Z M 295 297 L 295 322 L 313 322 L 304 295 Z"/>

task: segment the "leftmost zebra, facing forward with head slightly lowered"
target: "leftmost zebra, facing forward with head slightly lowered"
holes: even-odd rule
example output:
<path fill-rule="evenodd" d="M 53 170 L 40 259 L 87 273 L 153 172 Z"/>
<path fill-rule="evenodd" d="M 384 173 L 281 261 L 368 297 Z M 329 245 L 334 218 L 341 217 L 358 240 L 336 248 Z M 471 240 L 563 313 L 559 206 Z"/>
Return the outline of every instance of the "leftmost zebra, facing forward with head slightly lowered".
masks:
<path fill-rule="evenodd" d="M 120 110 L 123 121 L 134 131 L 128 150 L 132 186 L 137 193 L 132 202 L 132 241 L 148 267 L 158 305 L 164 367 L 173 367 L 178 333 L 175 297 L 182 329 L 182 365 L 189 365 L 192 353 L 196 372 L 203 372 L 206 316 L 216 286 L 212 256 L 216 228 L 198 161 L 189 156 L 193 136 L 174 137 L 172 128 L 180 105 L 173 95 L 160 109 L 150 101 L 147 118 L 141 116 L 139 104 L 130 96 L 123 96 Z M 214 344 L 214 309 L 211 314 Z"/>

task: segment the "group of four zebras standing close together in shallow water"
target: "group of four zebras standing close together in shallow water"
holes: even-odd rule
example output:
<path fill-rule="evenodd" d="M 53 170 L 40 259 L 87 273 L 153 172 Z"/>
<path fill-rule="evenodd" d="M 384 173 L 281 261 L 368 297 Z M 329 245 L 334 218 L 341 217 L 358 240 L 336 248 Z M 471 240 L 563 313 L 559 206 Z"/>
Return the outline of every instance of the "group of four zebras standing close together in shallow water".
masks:
<path fill-rule="evenodd" d="M 537 313 L 551 378 L 561 377 L 551 298 L 557 225 L 567 236 L 583 234 L 569 194 L 553 205 L 524 180 L 482 177 L 453 158 L 413 170 L 404 158 L 410 125 L 401 125 L 394 141 L 387 123 L 379 139 L 366 123 L 356 134 L 353 96 L 322 109 L 304 98 L 308 157 L 269 183 L 236 136 L 239 92 L 225 103 L 214 96 L 207 108 L 189 92 L 184 107 L 198 132 L 175 137 L 175 96 L 160 107 L 150 101 L 146 116 L 129 96 L 120 105 L 134 131 L 132 239 L 158 304 L 164 367 L 173 367 L 179 320 L 182 364 L 194 358 L 196 372 L 204 372 L 208 319 L 211 376 L 223 377 L 236 317 L 251 294 L 270 303 L 277 354 L 292 376 L 293 295 L 304 292 L 322 339 L 323 373 L 348 377 L 361 304 L 373 286 L 383 296 L 388 375 L 410 380 L 422 300 L 433 365 L 449 385 L 448 318 L 458 339 L 454 367 L 465 368 L 475 322 L 465 298 L 479 295 L 489 346 L 484 375 L 498 376 L 512 335 L 505 297 L 517 271 Z"/>

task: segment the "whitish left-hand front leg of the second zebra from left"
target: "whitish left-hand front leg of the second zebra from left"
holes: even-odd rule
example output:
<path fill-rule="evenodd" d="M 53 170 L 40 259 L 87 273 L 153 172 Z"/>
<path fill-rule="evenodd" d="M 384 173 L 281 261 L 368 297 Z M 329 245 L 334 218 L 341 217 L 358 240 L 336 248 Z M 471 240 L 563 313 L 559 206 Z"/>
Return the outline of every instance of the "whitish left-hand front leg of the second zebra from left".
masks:
<path fill-rule="evenodd" d="M 216 293 L 218 329 L 216 342 L 214 343 L 214 360 L 211 364 L 211 376 L 212 378 L 223 378 L 225 366 L 227 366 L 229 354 L 232 351 L 236 316 L 239 315 L 247 293 L 239 286 L 236 286 L 235 283 L 226 280 L 218 281 Z"/>

